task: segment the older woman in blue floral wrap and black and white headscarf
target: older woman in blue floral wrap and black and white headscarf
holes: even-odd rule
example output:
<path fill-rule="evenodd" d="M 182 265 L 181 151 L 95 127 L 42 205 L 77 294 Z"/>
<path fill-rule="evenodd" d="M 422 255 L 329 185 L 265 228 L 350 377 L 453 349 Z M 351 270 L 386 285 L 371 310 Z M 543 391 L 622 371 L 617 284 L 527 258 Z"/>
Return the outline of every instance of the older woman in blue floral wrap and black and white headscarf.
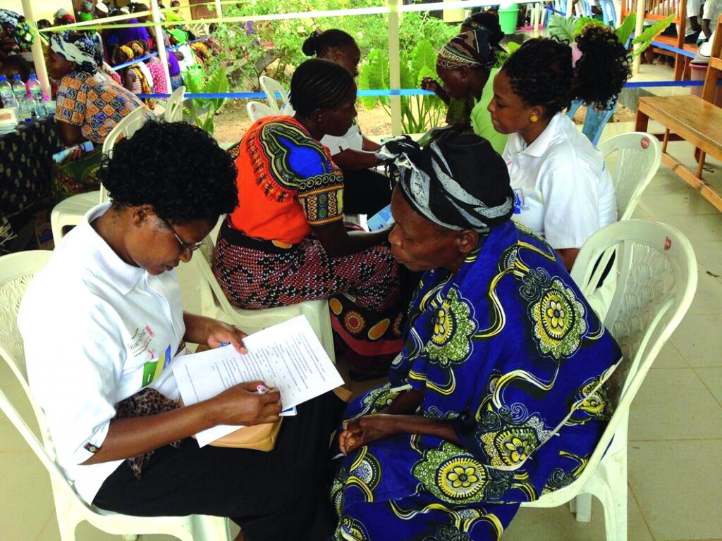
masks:
<path fill-rule="evenodd" d="M 391 250 L 426 272 L 389 382 L 345 414 L 334 539 L 498 540 L 521 502 L 580 475 L 622 355 L 554 250 L 510 221 L 488 141 L 386 150 Z"/>

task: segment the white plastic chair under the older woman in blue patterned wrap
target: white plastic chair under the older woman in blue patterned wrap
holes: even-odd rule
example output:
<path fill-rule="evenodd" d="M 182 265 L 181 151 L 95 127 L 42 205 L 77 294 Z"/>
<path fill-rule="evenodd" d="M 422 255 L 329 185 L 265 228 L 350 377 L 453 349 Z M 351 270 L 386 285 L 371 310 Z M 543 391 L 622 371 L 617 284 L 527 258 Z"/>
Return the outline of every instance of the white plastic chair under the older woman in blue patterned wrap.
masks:
<path fill-rule="evenodd" d="M 619 276 L 604 325 L 624 360 L 610 387 L 617 408 L 577 480 L 524 507 L 570 502 L 579 522 L 591 520 L 591 496 L 604 507 L 607 541 L 627 540 L 627 423 L 632 400 L 654 359 L 682 321 L 697 289 L 697 261 L 690 241 L 656 221 L 625 220 L 601 229 L 584 243 L 572 271 L 583 294 L 592 294 L 604 268 L 595 265 L 610 248 Z"/>

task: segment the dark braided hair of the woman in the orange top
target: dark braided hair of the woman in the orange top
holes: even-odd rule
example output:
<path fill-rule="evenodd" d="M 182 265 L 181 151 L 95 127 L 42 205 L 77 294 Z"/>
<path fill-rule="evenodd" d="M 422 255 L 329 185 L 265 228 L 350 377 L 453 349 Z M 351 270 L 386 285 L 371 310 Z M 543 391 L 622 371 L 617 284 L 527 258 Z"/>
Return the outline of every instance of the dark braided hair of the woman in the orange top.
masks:
<path fill-rule="evenodd" d="M 302 63 L 291 78 L 291 105 L 306 116 L 316 109 L 339 105 L 349 94 L 354 78 L 339 64 L 311 58 Z"/>

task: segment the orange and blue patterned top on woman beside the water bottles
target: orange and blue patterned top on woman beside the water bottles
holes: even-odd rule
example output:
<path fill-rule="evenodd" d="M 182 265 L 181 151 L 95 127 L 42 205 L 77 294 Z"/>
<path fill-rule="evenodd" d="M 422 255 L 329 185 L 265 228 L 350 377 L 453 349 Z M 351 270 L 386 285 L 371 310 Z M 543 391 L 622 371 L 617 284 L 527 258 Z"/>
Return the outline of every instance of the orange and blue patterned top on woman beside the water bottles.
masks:
<path fill-rule="evenodd" d="M 73 71 L 58 89 L 55 118 L 79 126 L 88 141 L 103 144 L 108 133 L 137 107 L 141 100 L 100 71 Z"/>

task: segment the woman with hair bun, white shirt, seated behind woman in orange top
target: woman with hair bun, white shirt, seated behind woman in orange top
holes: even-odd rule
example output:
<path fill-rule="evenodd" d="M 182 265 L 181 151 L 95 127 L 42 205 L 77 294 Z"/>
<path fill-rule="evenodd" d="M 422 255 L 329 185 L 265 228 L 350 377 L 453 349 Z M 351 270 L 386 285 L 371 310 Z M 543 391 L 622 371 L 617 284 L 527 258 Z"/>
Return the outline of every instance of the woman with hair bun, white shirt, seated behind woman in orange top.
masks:
<path fill-rule="evenodd" d="M 359 74 L 361 50 L 347 32 L 331 28 L 312 32 L 303 42 L 306 56 L 323 58 Z M 321 144 L 331 151 L 331 158 L 344 172 L 344 210 L 347 214 L 376 214 L 391 201 L 391 182 L 372 168 L 379 164 L 374 154 L 378 144 L 363 136 L 356 121 L 342 136 L 326 135 Z"/>

